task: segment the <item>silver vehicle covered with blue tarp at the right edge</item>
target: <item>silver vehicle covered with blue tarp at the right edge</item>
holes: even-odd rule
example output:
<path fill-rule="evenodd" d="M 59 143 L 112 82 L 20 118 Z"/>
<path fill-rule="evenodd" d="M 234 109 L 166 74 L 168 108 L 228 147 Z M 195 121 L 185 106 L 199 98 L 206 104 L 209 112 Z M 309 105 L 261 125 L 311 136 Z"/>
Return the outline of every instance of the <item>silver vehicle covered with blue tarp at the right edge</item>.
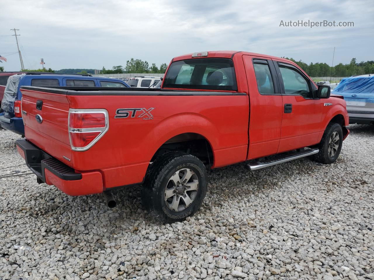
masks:
<path fill-rule="evenodd" d="M 374 75 L 344 78 L 334 89 L 344 97 L 350 124 L 374 125 Z"/>

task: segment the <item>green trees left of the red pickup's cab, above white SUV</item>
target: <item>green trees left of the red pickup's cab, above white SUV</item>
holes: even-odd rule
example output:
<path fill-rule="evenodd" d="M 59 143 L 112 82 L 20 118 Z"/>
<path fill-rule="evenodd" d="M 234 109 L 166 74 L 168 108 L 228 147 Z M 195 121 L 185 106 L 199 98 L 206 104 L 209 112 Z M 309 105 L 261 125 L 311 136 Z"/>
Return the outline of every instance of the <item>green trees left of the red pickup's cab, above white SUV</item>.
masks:
<path fill-rule="evenodd" d="M 130 59 L 126 61 L 126 66 L 123 67 L 122 65 L 113 66 L 112 69 L 105 69 L 102 68 L 101 74 L 122 74 L 122 73 L 160 73 L 163 74 L 166 71 L 168 65 L 166 63 L 162 63 L 160 67 L 156 66 L 156 63 L 152 63 L 149 65 L 147 61 L 143 61 L 141 59 Z"/>

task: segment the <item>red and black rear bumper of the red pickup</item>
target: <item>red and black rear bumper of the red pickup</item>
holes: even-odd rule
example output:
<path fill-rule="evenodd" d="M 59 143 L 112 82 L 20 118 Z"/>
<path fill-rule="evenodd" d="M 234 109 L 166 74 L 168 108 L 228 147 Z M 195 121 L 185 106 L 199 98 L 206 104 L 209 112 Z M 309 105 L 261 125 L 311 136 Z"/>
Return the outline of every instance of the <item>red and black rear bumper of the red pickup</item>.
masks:
<path fill-rule="evenodd" d="M 25 139 L 16 141 L 18 153 L 38 178 L 39 183 L 55 185 L 71 196 L 103 192 L 102 175 L 98 171 L 76 172 Z"/>

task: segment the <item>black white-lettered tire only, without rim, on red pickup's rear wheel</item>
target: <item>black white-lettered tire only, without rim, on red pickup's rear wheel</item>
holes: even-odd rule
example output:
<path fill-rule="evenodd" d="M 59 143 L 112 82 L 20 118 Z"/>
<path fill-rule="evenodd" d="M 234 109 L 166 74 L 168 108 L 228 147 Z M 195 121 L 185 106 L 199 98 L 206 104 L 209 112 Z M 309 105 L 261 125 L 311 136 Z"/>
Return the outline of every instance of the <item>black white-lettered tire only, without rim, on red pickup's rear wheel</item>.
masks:
<path fill-rule="evenodd" d="M 196 197 L 183 211 L 172 211 L 164 199 L 165 188 L 173 174 L 187 167 L 194 171 L 199 181 Z M 167 152 L 156 158 L 148 168 L 142 186 L 142 204 L 157 220 L 175 223 L 197 212 L 206 195 L 206 189 L 206 169 L 200 159 L 183 152 Z"/>

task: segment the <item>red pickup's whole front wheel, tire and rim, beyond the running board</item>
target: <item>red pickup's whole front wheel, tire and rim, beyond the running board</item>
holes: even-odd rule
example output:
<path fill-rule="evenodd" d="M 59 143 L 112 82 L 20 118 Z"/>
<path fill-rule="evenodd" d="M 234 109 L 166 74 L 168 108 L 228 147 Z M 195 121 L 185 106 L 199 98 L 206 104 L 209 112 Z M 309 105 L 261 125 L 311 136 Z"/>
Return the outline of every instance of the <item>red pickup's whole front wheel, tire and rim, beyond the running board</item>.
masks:
<path fill-rule="evenodd" d="M 343 144 L 343 130 L 340 124 L 329 123 L 319 143 L 319 152 L 314 159 L 323 164 L 332 164 L 340 154 Z"/>

